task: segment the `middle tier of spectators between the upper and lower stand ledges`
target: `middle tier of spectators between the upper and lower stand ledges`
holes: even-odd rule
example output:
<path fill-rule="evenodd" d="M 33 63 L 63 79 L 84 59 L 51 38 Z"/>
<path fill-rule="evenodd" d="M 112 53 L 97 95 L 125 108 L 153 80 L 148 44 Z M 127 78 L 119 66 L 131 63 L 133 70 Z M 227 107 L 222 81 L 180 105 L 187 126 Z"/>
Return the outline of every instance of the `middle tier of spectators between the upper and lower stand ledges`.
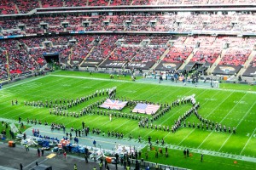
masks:
<path fill-rule="evenodd" d="M 5 36 L 64 31 L 242 31 L 255 32 L 255 14 L 116 14 L 65 17 L 40 16 L 32 19 L 0 21 Z M 230 24 L 231 23 L 231 24 Z M 22 27 L 20 27 L 22 25 Z M 15 29 L 15 31 L 10 29 Z M 38 32 L 39 31 L 39 32 Z M 214 39 L 212 37 L 212 39 Z M 203 39 L 202 39 L 203 41 Z M 207 38 L 207 42 L 212 40 Z M 205 42 L 205 43 L 207 43 Z"/>

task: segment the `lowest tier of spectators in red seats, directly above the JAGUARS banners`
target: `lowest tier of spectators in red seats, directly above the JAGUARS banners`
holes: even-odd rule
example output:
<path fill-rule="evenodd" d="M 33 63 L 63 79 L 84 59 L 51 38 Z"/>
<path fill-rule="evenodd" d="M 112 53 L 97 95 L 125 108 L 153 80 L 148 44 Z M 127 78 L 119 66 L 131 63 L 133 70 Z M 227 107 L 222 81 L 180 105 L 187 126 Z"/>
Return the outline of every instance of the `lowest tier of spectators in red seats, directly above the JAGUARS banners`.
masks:
<path fill-rule="evenodd" d="M 0 41 L 1 79 L 8 77 L 6 56 L 11 76 L 37 71 L 46 64 L 43 54 L 60 54 L 61 63 L 82 65 L 84 61 L 104 59 L 166 63 L 190 61 L 219 65 L 244 65 L 253 51 L 254 37 L 175 37 L 150 35 L 74 35 L 30 37 Z M 224 50 L 227 48 L 226 50 Z M 163 56 L 162 59 L 160 57 Z M 255 65 L 253 60 L 250 65 Z M 5 77 L 5 78 L 4 78 Z"/>

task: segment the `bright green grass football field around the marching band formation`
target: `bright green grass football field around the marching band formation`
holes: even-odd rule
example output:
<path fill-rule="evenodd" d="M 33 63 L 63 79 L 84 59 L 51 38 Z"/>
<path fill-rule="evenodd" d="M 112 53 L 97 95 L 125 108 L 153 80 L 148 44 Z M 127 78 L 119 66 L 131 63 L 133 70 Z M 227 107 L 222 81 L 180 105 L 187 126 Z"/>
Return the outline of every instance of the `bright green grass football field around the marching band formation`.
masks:
<path fill-rule="evenodd" d="M 116 81 L 117 79 L 120 81 Z M 140 135 L 143 140 L 148 141 L 148 135 L 150 135 L 153 145 L 155 139 L 165 139 L 166 144 L 195 149 L 193 157 L 184 159 L 182 149 L 177 148 L 172 150 L 174 156 L 172 155 L 168 159 L 162 157 L 157 160 L 160 163 L 177 167 L 255 169 L 255 162 L 238 161 L 237 164 L 234 164 L 233 161 L 236 161 L 236 158 L 225 158 L 224 155 L 205 156 L 205 161 L 201 163 L 198 154 L 200 152 L 198 150 L 211 150 L 223 154 L 256 157 L 256 93 L 254 87 L 223 83 L 221 85 L 223 89 L 202 89 L 138 82 L 131 82 L 130 77 L 116 77 L 114 80 L 110 80 L 109 75 L 93 73 L 90 76 L 89 73 L 74 71 L 58 71 L 46 77 L 30 78 L 4 86 L 0 90 L 0 117 L 18 120 L 20 116 L 22 121 L 25 122 L 26 118 L 36 118 L 41 122 L 64 123 L 67 127 L 73 126 L 74 128 L 81 128 L 81 122 L 84 121 L 86 125 L 100 128 L 105 132 L 108 130 L 122 132 L 125 134 L 125 138 L 128 138 L 129 133 L 131 133 L 135 139 Z M 219 122 L 226 127 L 236 127 L 237 134 L 189 127 L 180 127 L 177 133 L 168 133 L 138 127 L 137 120 L 128 118 L 113 117 L 113 122 L 110 122 L 108 116 L 101 115 L 86 115 L 79 118 L 55 116 L 49 115 L 49 108 L 38 108 L 23 104 L 24 101 L 45 101 L 45 99 L 76 99 L 92 94 L 96 90 L 112 87 L 117 87 L 117 97 L 168 104 L 172 104 L 172 101 L 178 98 L 195 94 L 195 99 L 201 104 L 198 112 L 202 117 Z M 230 90 L 224 90 L 227 88 Z M 90 99 L 69 111 L 79 112 L 85 106 L 102 98 Z M 19 105 L 11 105 L 12 99 L 18 99 Z M 174 107 L 153 124 L 172 127 L 178 116 L 181 116 L 191 107 L 190 104 Z M 126 107 L 122 112 L 130 113 L 131 110 L 132 108 Z M 196 124 L 200 121 L 195 115 L 192 115 L 186 122 L 195 122 Z M 152 154 L 154 153 L 149 155 L 148 161 L 156 161 Z"/>

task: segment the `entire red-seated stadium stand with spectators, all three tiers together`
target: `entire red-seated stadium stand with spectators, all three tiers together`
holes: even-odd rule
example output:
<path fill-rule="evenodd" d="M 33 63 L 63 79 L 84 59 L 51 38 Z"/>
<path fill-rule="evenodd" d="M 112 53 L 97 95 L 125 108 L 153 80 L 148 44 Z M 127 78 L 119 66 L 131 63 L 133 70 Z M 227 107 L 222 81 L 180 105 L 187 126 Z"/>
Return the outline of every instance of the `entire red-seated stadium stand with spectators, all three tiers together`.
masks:
<path fill-rule="evenodd" d="M 192 8 L 189 5 L 248 3 L 253 1 L 15 0 L 9 2 L 3 0 L 0 10 L 4 16 L 4 14 L 26 14 L 34 8 L 41 8 L 39 10 L 43 11 L 45 8 L 49 8 L 46 10 L 50 11 L 59 7 L 85 6 L 96 6 L 95 8 L 101 9 L 105 8 L 103 6 L 108 6 L 110 9 L 136 9 L 142 7 L 132 6 L 150 5 L 143 8 L 152 8 L 152 5 L 160 5 L 158 8 L 164 8 L 166 5 L 180 4 Z M 52 7 L 55 9 L 51 9 Z M 206 7 L 211 8 L 211 6 Z M 68 8 L 59 9 L 68 10 Z M 152 62 L 156 64 L 154 67 L 157 67 L 158 63 L 166 65 L 172 63 L 184 67 L 188 62 L 208 66 L 214 64 L 214 66 L 255 67 L 252 52 L 256 38 L 244 36 L 256 32 L 256 15 L 253 12 L 125 13 L 123 9 L 118 10 L 111 14 L 79 11 L 40 14 L 40 11 L 38 13 L 34 10 L 35 14 L 29 17 L 3 18 L 0 20 L 0 37 L 19 36 L 20 38 L 1 40 L 1 59 L 5 62 L 3 51 L 7 50 L 12 74 L 39 69 L 46 64 L 44 54 L 60 54 L 61 63 L 71 67 L 99 65 L 104 67 L 107 61 L 106 65 L 110 65 L 112 61 L 120 61 L 121 65 L 125 65 L 125 62 L 127 65 L 132 62 Z M 87 35 L 87 31 L 93 31 L 95 34 Z M 137 33 L 134 34 L 134 31 Z M 79 35 L 81 33 L 84 35 Z M 232 36 L 224 35 L 226 33 Z M 1 67 L 1 74 L 6 75 L 3 65 Z"/>

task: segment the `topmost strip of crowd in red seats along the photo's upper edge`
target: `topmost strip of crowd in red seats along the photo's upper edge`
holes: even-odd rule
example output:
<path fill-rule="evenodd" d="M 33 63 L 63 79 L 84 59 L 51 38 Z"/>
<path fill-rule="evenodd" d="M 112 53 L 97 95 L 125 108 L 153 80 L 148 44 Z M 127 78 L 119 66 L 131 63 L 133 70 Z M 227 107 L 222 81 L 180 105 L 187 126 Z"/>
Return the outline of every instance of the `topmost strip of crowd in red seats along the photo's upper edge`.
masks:
<path fill-rule="evenodd" d="M 250 4 L 253 0 L 3 0 L 0 14 L 25 14 L 34 8 L 85 7 L 85 6 L 120 6 L 120 5 L 173 5 L 173 4 Z"/>

